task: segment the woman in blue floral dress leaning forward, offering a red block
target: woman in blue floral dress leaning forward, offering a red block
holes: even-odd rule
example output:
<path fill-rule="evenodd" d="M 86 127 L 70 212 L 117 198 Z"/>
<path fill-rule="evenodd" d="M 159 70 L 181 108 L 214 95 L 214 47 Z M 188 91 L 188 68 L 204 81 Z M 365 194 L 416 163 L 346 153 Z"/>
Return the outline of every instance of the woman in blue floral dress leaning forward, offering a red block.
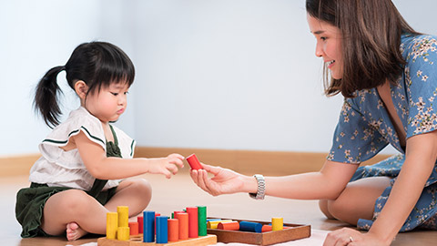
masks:
<path fill-rule="evenodd" d="M 389 245 L 399 231 L 436 230 L 437 37 L 415 32 L 390 0 L 307 0 L 306 9 L 326 95 L 345 97 L 322 169 L 254 179 L 203 165 L 192 179 L 215 196 L 320 200 L 328 218 L 369 230 L 330 232 L 325 245 Z M 388 144 L 400 154 L 359 168 Z"/>

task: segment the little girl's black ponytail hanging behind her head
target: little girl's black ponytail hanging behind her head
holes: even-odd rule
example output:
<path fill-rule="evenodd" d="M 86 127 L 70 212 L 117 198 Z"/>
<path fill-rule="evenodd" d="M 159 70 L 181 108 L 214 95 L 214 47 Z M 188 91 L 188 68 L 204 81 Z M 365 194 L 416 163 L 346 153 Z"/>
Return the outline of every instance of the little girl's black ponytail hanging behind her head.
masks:
<path fill-rule="evenodd" d="M 61 88 L 57 85 L 57 74 L 66 67 L 58 66 L 46 72 L 46 75 L 39 81 L 36 86 L 34 99 L 34 108 L 41 114 L 50 128 L 59 124 L 58 117 L 62 114 L 58 103 L 58 92 L 62 93 Z"/>

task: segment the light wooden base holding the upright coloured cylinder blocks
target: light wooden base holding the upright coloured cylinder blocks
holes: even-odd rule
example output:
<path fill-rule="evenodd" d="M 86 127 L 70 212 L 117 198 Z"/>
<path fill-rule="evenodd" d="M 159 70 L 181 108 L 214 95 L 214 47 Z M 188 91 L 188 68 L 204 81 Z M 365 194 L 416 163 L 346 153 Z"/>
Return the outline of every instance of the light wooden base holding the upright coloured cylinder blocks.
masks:
<path fill-rule="evenodd" d="M 107 238 L 99 238 L 97 240 L 98 246 L 146 246 L 146 245 L 175 245 L 175 246 L 204 246 L 214 245 L 217 243 L 216 235 L 207 235 L 195 239 L 188 239 L 183 241 L 169 241 L 168 243 L 143 242 L 143 236 L 131 236 L 129 241 L 109 240 Z"/>

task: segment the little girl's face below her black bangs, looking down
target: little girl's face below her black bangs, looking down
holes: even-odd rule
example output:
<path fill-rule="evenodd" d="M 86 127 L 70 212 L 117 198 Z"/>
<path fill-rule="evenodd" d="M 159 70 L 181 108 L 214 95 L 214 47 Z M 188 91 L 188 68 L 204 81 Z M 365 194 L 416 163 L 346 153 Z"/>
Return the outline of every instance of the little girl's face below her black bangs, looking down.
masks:
<path fill-rule="evenodd" d="M 127 107 L 127 83 L 111 83 L 109 87 L 101 87 L 100 91 L 90 93 L 84 107 L 100 121 L 107 123 L 116 121 Z"/>

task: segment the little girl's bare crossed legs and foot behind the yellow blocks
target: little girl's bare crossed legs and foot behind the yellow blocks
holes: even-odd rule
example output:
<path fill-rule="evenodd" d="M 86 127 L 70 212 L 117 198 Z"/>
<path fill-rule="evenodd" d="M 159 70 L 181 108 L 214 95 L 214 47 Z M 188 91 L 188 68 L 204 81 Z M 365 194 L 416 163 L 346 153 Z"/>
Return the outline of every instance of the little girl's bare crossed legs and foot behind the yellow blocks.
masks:
<path fill-rule="evenodd" d="M 145 179 L 126 179 L 120 182 L 114 197 L 104 207 L 83 190 L 65 190 L 50 197 L 44 208 L 41 228 L 50 235 L 66 231 L 68 241 L 86 233 L 105 234 L 107 212 L 117 206 L 128 206 L 129 217 L 147 207 L 151 188 Z"/>

